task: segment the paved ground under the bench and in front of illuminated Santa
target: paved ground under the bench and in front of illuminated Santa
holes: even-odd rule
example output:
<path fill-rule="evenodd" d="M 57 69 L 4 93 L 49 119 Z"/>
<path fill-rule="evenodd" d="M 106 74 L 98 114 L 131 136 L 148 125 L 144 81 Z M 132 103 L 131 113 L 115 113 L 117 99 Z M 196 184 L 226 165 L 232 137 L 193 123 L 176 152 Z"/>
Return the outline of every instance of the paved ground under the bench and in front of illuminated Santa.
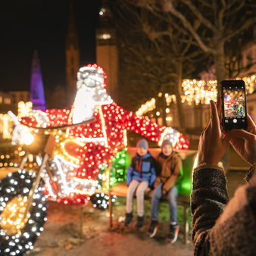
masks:
<path fill-rule="evenodd" d="M 244 171 L 229 171 L 227 174 L 228 191 L 233 196 L 237 186 L 245 183 Z M 108 212 L 91 206 L 83 208 L 83 239 L 80 239 L 80 208 L 64 206 L 50 202 L 48 205 L 48 221 L 42 236 L 36 242 L 33 251 L 27 255 L 39 256 L 136 256 L 136 255 L 192 255 L 192 245 L 183 244 L 183 230 L 173 245 L 165 242 L 168 233 L 167 205 L 161 204 L 161 226 L 154 239 L 149 239 L 145 232 L 149 224 L 149 214 L 146 214 L 145 227 L 141 232 L 133 226 L 124 228 L 120 217 L 125 212 L 125 201 L 120 199 L 114 206 L 114 228 L 108 228 Z M 145 212 L 150 205 L 145 202 Z"/>

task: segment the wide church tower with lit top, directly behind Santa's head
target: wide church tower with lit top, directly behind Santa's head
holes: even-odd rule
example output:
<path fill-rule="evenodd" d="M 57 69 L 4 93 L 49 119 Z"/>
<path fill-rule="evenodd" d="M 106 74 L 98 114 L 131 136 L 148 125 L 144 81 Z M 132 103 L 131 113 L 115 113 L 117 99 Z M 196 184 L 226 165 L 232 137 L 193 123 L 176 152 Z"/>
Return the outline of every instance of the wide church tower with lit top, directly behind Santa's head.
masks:
<path fill-rule="evenodd" d="M 96 30 L 96 63 L 101 66 L 107 78 L 107 92 L 117 100 L 118 54 L 114 20 L 108 0 L 102 0 L 99 11 L 99 26 Z"/>

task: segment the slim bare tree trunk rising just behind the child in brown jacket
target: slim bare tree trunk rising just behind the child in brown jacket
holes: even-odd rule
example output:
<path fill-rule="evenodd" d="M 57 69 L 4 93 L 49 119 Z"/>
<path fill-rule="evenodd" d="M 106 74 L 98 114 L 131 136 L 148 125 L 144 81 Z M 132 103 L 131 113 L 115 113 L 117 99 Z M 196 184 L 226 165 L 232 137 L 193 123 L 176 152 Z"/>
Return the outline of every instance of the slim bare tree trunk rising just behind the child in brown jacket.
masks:
<path fill-rule="evenodd" d="M 176 105 L 178 111 L 178 118 L 180 123 L 180 131 L 185 131 L 185 117 L 183 111 L 183 104 L 181 103 L 181 95 L 182 95 L 182 83 L 183 83 L 183 64 L 182 62 L 177 63 L 177 89 L 176 89 Z"/>

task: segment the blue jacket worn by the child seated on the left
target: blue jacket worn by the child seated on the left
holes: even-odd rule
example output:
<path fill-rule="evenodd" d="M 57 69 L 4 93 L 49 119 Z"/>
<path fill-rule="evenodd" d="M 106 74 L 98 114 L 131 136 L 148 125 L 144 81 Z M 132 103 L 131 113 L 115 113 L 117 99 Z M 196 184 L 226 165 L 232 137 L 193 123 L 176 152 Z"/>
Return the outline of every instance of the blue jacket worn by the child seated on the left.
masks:
<path fill-rule="evenodd" d="M 153 158 L 149 152 L 146 155 L 142 155 L 142 157 L 136 154 L 132 160 L 132 164 L 127 170 L 126 183 L 127 186 L 129 186 L 132 180 L 139 182 L 146 181 L 148 186 L 151 187 L 156 177 L 155 158 Z"/>

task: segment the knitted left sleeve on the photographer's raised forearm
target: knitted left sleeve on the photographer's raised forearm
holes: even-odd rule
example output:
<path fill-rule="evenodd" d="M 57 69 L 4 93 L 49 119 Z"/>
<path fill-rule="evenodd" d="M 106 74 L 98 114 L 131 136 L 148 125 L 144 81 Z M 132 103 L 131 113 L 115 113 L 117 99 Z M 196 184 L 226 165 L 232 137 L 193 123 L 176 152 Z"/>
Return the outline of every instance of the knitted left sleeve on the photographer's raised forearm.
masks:
<path fill-rule="evenodd" d="M 208 233 L 223 212 L 229 198 L 224 170 L 201 164 L 193 173 L 191 209 L 192 243 L 195 255 L 207 255 Z"/>

